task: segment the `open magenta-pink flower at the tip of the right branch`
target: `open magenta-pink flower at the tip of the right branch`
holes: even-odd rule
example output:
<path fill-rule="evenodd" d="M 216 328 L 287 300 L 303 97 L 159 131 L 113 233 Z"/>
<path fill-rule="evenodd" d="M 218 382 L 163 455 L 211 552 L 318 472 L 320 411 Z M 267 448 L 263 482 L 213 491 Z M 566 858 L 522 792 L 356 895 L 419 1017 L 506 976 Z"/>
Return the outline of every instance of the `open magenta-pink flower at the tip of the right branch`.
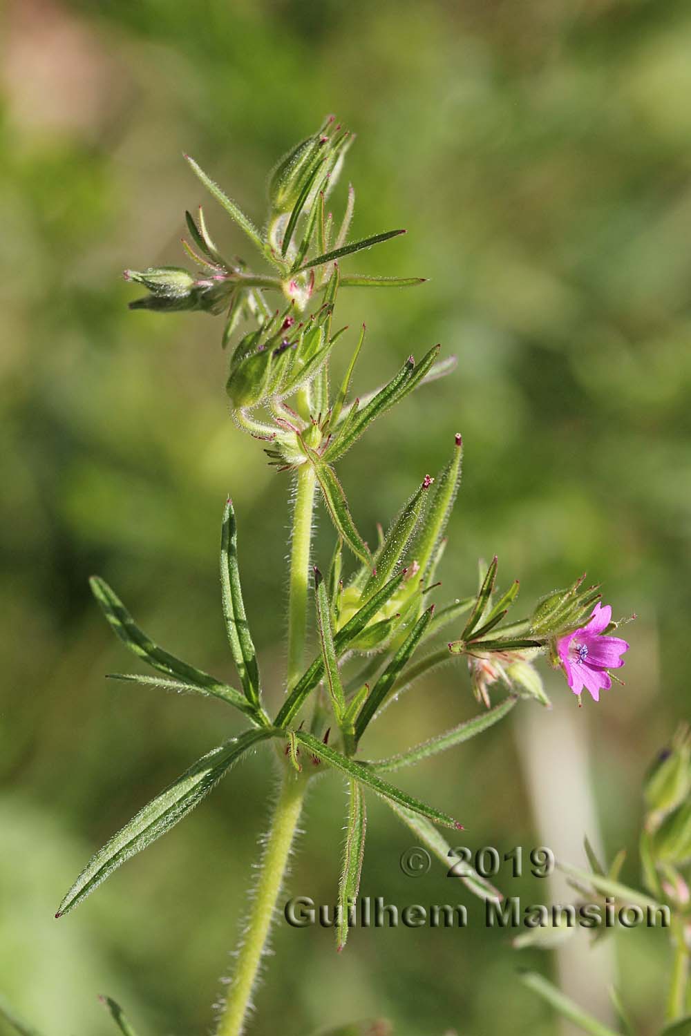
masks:
<path fill-rule="evenodd" d="M 595 701 L 601 690 L 609 690 L 612 679 L 608 669 L 618 669 L 624 665 L 621 656 L 629 650 L 626 640 L 604 634 L 611 622 L 612 609 L 600 602 L 595 606 L 587 626 L 574 630 L 556 642 L 559 662 L 574 694 L 580 695 L 583 688 L 591 692 Z"/>

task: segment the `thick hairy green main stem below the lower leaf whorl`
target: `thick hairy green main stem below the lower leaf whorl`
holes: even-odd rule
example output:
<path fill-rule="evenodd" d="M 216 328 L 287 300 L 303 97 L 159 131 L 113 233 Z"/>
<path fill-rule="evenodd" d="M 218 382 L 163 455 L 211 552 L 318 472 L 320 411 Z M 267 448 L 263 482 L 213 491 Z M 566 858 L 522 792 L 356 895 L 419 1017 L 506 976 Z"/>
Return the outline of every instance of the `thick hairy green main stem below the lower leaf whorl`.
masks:
<path fill-rule="evenodd" d="M 217 1036 L 239 1036 L 243 1030 L 306 790 L 305 777 L 284 767 L 252 911 Z"/>

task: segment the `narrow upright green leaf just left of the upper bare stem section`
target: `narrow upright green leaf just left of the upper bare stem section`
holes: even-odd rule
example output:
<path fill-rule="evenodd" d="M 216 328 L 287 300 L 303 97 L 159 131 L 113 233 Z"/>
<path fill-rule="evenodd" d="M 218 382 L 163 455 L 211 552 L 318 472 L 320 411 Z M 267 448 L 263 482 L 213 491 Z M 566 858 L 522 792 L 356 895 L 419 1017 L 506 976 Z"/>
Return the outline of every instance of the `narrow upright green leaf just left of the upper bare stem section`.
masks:
<path fill-rule="evenodd" d="M 221 596 L 228 642 L 244 696 L 251 704 L 258 707 L 260 686 L 257 653 L 244 612 L 237 564 L 237 522 L 230 497 L 226 501 L 221 535 Z"/>

